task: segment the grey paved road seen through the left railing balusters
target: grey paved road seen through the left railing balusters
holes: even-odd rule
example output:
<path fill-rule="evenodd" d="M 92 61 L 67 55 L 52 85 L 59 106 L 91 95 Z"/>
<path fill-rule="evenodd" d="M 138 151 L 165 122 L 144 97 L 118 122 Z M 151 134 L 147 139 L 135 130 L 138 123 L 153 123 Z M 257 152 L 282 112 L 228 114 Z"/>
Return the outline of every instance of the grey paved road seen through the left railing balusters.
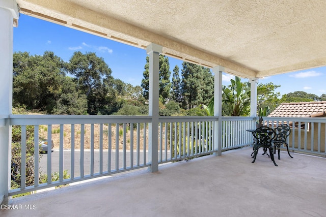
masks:
<path fill-rule="evenodd" d="M 74 151 L 74 176 L 80 176 L 80 150 Z M 59 149 L 53 149 L 51 152 L 51 172 L 59 172 Z M 103 171 L 107 171 L 107 150 L 103 150 Z M 90 150 L 84 150 L 84 175 L 90 174 Z M 63 160 L 63 168 L 64 170 L 68 170 L 68 174 L 71 171 L 71 151 L 64 150 L 63 153 L 64 160 Z M 148 154 L 146 154 L 148 158 Z M 94 150 L 94 173 L 98 173 L 100 171 L 100 152 L 99 150 Z M 123 152 L 119 151 L 119 164 L 118 168 L 123 168 Z M 140 152 L 140 165 L 144 164 L 144 153 Z M 130 151 L 126 152 L 126 167 L 130 167 Z M 133 155 L 133 165 L 137 165 L 137 156 L 134 152 Z M 47 173 L 47 153 L 40 154 L 40 163 L 39 168 L 42 174 Z M 111 154 L 111 170 L 116 169 L 116 152 L 115 150 L 112 151 Z"/>

